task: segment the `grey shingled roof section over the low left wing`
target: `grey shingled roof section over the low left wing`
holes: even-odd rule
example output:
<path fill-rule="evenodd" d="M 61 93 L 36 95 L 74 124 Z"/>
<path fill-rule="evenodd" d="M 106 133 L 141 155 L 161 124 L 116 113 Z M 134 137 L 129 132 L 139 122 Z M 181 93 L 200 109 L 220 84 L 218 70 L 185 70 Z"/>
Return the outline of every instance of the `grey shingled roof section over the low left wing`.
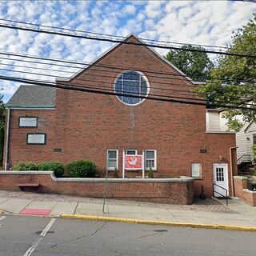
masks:
<path fill-rule="evenodd" d="M 54 108 L 56 88 L 47 86 L 22 85 L 14 93 L 6 107 Z"/>

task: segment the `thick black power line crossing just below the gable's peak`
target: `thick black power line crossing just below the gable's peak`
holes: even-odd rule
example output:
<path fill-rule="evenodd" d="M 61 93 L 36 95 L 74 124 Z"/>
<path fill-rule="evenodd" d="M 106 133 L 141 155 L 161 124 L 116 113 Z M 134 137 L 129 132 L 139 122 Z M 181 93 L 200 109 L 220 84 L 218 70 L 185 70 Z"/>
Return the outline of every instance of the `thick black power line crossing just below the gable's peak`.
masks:
<path fill-rule="evenodd" d="M 35 24 L 34 26 L 37 26 L 37 25 Z M 142 43 L 142 42 L 126 42 L 126 41 L 121 41 L 113 38 L 100 38 L 100 37 L 87 36 L 82 34 L 70 34 L 70 33 L 64 33 L 60 31 L 42 30 L 35 27 L 33 28 L 33 27 L 25 27 L 25 26 L 15 26 L 15 25 L 8 25 L 8 24 L 0 24 L 0 27 L 12 29 L 12 30 L 24 30 L 24 31 L 37 32 L 37 33 L 43 33 L 43 34 L 54 34 L 54 35 L 67 36 L 71 38 L 83 38 L 83 39 L 102 41 L 102 42 L 117 42 L 117 43 L 119 42 L 126 45 L 148 46 L 148 47 L 161 48 L 161 49 L 167 49 L 167 50 L 170 50 L 170 49 L 184 50 L 184 51 L 201 52 L 201 53 L 208 53 L 208 54 L 222 54 L 222 55 L 234 56 L 234 57 L 256 58 L 256 55 L 251 55 L 251 54 L 235 54 L 235 53 L 229 53 L 229 52 L 223 52 L 223 51 L 217 51 L 217 50 L 187 49 L 187 48 L 176 47 L 176 46 L 162 46 L 162 45 Z"/>

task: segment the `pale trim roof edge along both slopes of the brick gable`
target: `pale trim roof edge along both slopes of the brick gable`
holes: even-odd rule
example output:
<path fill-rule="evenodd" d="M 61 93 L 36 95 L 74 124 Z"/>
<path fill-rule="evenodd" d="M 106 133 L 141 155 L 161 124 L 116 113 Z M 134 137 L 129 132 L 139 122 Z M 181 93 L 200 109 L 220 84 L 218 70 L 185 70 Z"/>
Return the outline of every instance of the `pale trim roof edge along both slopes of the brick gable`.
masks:
<path fill-rule="evenodd" d="M 128 41 L 130 38 L 135 38 L 136 40 L 138 40 L 138 42 L 141 43 L 145 43 L 143 42 L 141 39 L 137 38 L 133 33 L 129 34 L 124 40 L 123 42 Z M 90 65 L 86 65 L 85 67 L 81 68 L 77 73 L 75 73 L 73 76 L 71 76 L 70 78 L 67 79 L 56 79 L 56 81 L 70 81 L 73 78 L 76 78 L 79 74 L 81 74 L 82 72 L 84 72 L 85 70 L 89 69 L 90 66 L 95 66 L 102 58 L 104 58 L 104 56 L 106 56 L 106 54 L 109 54 L 111 51 L 113 51 L 115 48 L 117 48 L 118 46 L 120 46 L 122 44 L 122 42 L 118 42 L 116 44 L 114 44 L 114 46 L 110 47 L 109 50 L 106 50 L 106 52 L 104 52 L 103 54 L 101 54 L 98 58 L 94 59 L 93 62 L 90 62 Z M 182 74 L 182 76 L 185 76 L 185 78 L 187 80 L 189 80 L 190 82 L 198 85 L 198 84 L 202 84 L 204 82 L 194 82 L 193 79 L 191 79 L 189 76 L 187 76 L 186 74 L 184 74 L 182 72 L 182 70 L 179 70 L 177 66 L 174 66 L 174 64 L 172 64 L 171 62 L 169 62 L 166 58 L 164 58 L 161 54 L 158 54 L 157 51 L 155 51 L 152 47 L 149 46 L 144 46 L 146 48 L 148 48 L 154 55 L 156 55 L 158 58 L 160 58 L 162 60 L 162 62 L 165 62 L 166 64 L 168 64 L 170 67 L 172 67 L 174 70 L 178 71 L 178 73 Z"/>

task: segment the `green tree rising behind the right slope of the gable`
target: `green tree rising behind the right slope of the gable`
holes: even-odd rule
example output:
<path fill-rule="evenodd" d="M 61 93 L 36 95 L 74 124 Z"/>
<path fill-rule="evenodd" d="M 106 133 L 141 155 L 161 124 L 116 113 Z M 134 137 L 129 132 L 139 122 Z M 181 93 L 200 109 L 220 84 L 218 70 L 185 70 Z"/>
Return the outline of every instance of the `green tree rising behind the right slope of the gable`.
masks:
<path fill-rule="evenodd" d="M 201 46 L 191 45 L 182 46 L 182 49 L 205 50 Z M 214 67 L 206 52 L 170 50 L 166 59 L 194 81 L 204 81 L 210 76 L 210 70 Z"/>

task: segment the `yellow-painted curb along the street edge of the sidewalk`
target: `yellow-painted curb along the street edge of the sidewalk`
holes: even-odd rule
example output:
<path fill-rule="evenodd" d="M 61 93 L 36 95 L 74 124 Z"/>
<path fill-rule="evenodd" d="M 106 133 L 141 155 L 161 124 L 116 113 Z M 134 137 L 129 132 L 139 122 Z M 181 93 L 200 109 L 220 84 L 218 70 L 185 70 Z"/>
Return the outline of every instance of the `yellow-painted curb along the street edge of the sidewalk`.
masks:
<path fill-rule="evenodd" d="M 91 221 L 125 222 L 125 223 L 163 225 L 163 226 L 182 226 L 182 227 L 213 229 L 213 230 L 240 230 L 240 231 L 256 232 L 256 227 L 254 226 L 232 226 L 232 225 L 222 225 L 222 224 L 164 222 L 164 221 L 153 221 L 153 220 L 145 220 L 145 219 L 141 220 L 141 219 L 134 219 L 134 218 L 114 218 L 114 217 L 92 216 L 92 215 L 82 215 L 82 214 L 61 214 L 60 218 L 74 218 L 74 219 L 84 219 L 84 220 L 91 220 Z"/>

